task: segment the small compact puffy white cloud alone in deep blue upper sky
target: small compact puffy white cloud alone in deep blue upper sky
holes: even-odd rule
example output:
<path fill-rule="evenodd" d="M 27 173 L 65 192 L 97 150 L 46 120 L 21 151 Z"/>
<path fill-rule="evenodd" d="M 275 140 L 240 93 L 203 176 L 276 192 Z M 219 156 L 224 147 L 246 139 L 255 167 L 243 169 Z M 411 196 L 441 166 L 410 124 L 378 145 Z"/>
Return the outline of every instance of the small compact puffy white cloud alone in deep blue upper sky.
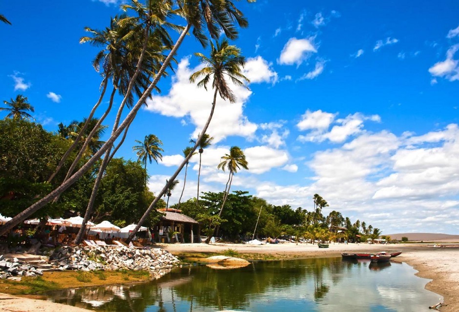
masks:
<path fill-rule="evenodd" d="M 296 39 L 291 38 L 285 44 L 280 57 L 278 59 L 279 64 L 292 65 L 301 64 L 305 59 L 309 58 L 312 53 L 316 53 L 317 50 L 313 45 L 313 38 L 310 39 Z"/>

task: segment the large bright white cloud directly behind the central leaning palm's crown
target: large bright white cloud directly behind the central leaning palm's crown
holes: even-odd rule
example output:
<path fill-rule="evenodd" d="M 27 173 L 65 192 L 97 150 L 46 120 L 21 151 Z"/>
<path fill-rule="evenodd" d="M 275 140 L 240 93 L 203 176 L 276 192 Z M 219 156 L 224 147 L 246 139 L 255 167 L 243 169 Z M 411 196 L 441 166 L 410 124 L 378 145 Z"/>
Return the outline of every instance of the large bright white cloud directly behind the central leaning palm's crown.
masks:
<path fill-rule="evenodd" d="M 209 117 L 213 99 L 211 86 L 208 92 L 189 83 L 189 76 L 198 68 L 190 68 L 188 58 L 182 59 L 172 77 L 169 93 L 147 100 L 148 107 L 145 108 L 164 116 L 189 116 L 189 121 L 196 125 L 191 137 L 197 137 L 201 132 Z M 260 77 L 257 79 L 263 80 Z M 215 143 L 227 136 L 252 137 L 257 129 L 256 124 L 250 122 L 243 114 L 244 103 L 249 99 L 251 91 L 232 83 L 230 87 L 237 101 L 229 103 L 217 96 L 215 112 L 208 129 L 208 133 L 215 138 Z"/>

